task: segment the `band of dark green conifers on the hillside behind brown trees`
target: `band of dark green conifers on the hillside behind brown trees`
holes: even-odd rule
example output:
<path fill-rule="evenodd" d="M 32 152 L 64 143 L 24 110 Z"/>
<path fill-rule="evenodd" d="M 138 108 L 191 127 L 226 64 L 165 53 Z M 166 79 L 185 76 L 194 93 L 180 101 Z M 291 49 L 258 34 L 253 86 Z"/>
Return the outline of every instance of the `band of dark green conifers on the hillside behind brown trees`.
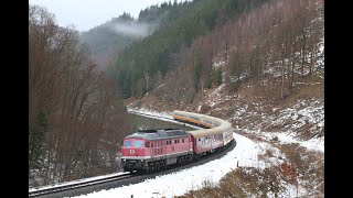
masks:
<path fill-rule="evenodd" d="M 143 96 L 159 86 L 168 72 L 180 65 L 178 53 L 190 47 L 194 38 L 264 2 L 196 0 L 183 3 L 176 7 L 180 14 L 175 20 L 121 52 L 109 74 L 121 86 L 125 98 Z M 193 65 L 201 64 L 200 55 L 195 56 Z"/>

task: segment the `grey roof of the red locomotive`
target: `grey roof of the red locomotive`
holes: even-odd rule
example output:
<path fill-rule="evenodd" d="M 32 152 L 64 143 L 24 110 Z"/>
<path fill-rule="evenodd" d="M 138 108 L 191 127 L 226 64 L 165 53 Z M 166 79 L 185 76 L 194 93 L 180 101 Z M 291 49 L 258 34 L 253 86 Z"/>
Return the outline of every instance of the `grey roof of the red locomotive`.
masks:
<path fill-rule="evenodd" d="M 176 138 L 189 138 L 190 133 L 180 129 L 157 129 L 157 130 L 138 130 L 133 134 L 126 136 L 126 139 L 146 139 L 146 140 L 164 140 Z"/>

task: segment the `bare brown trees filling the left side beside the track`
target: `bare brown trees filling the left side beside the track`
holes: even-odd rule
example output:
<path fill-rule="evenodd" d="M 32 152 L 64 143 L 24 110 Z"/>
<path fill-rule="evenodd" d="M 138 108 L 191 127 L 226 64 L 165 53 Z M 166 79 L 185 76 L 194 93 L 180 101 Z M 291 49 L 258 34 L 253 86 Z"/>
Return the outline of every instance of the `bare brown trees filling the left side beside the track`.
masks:
<path fill-rule="evenodd" d="M 116 172 L 130 120 L 116 84 L 95 69 L 75 30 L 29 8 L 30 186 Z"/>

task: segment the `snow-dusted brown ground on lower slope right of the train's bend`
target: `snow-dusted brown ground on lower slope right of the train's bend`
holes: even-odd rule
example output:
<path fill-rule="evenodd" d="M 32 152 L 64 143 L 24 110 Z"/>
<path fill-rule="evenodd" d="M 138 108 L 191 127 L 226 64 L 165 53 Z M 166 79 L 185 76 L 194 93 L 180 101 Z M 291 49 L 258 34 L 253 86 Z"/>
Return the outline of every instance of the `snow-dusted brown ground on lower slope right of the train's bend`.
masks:
<path fill-rule="evenodd" d="M 324 128 L 324 107 L 322 99 L 302 99 L 298 100 L 296 105 L 286 107 L 284 109 L 272 108 L 271 113 L 261 112 L 260 108 L 265 106 L 257 106 L 250 103 L 249 108 L 246 103 L 240 103 L 234 111 L 234 116 L 228 120 L 233 123 L 248 123 L 243 130 L 263 131 L 261 129 L 281 129 L 284 132 L 301 132 L 308 130 L 312 134 L 318 134 Z M 249 110 L 250 109 L 250 110 Z M 261 114 L 259 113 L 261 112 Z M 258 119 L 254 119 L 257 117 Z"/>

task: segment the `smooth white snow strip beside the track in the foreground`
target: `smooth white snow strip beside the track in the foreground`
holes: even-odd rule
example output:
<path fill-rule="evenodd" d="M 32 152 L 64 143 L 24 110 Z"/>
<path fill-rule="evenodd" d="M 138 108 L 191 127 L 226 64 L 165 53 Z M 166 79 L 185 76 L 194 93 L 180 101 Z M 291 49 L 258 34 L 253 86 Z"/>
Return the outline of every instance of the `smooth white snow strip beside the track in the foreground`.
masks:
<path fill-rule="evenodd" d="M 115 189 L 92 193 L 82 198 L 98 197 L 127 197 L 133 195 L 138 197 L 173 197 L 181 196 L 189 190 L 202 187 L 202 183 L 211 180 L 217 183 L 226 173 L 238 166 L 247 167 L 265 167 L 265 163 L 258 161 L 257 155 L 261 152 L 261 147 L 252 140 L 234 133 L 237 145 L 222 158 L 208 162 L 204 165 L 191 167 L 175 172 L 173 174 L 158 176 L 154 179 L 147 179 L 142 183 L 129 186 L 122 186 Z M 158 195 L 157 195 L 158 193 Z"/>

